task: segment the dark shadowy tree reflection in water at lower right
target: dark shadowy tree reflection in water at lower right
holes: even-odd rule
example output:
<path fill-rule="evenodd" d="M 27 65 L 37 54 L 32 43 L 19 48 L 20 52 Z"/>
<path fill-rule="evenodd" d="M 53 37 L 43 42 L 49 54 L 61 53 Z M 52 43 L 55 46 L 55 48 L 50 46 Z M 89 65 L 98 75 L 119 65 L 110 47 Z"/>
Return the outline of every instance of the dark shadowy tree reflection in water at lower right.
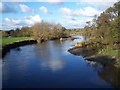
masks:
<path fill-rule="evenodd" d="M 116 88 L 120 88 L 120 69 L 112 65 L 101 65 L 93 61 L 87 61 L 90 66 L 96 70 L 101 79 L 110 83 Z"/>

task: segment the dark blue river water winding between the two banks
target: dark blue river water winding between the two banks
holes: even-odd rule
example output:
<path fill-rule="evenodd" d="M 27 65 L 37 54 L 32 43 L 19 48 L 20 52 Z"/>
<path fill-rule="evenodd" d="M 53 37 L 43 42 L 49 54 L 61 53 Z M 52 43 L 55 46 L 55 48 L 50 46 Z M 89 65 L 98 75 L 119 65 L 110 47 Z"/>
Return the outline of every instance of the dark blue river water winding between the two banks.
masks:
<path fill-rule="evenodd" d="M 113 88 L 110 80 L 116 76 L 109 77 L 111 71 L 67 51 L 83 40 L 81 36 L 73 41 L 51 40 L 12 49 L 2 61 L 2 87 Z"/>

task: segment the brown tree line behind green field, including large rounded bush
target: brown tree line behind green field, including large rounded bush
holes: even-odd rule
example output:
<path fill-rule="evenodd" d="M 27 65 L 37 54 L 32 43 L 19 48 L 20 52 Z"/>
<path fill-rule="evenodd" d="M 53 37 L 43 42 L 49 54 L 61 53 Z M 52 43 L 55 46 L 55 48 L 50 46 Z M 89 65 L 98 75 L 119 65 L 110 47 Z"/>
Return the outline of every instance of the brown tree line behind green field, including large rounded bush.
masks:
<path fill-rule="evenodd" d="M 48 23 L 42 21 L 41 23 L 36 23 L 32 27 L 24 26 L 21 29 L 16 28 L 16 30 L 3 31 L 2 37 L 33 37 L 38 42 L 56 39 L 60 37 L 66 37 L 66 28 L 60 24 Z"/>

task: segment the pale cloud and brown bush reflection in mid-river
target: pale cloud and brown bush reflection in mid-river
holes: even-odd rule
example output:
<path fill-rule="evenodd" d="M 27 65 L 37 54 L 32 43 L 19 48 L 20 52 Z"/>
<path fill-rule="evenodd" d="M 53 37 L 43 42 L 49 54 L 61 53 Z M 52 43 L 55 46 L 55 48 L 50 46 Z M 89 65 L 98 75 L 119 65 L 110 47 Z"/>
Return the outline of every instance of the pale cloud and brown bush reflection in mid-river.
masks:
<path fill-rule="evenodd" d="M 35 45 L 34 52 L 37 59 L 40 61 L 42 69 L 57 71 L 64 67 L 62 48 L 60 41 L 48 41 L 42 43 L 42 45 Z"/>

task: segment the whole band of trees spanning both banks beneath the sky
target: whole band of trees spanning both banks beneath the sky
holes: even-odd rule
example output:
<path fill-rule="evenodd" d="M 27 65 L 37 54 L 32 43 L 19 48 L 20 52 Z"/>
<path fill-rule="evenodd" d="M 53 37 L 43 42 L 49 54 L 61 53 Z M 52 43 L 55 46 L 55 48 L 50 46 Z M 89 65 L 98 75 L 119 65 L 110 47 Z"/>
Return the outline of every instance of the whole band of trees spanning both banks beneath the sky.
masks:
<path fill-rule="evenodd" d="M 84 35 L 92 40 L 89 43 L 97 43 L 101 46 L 109 45 L 118 47 L 120 43 L 120 1 L 106 9 L 100 16 L 95 15 L 92 21 L 86 22 L 81 29 L 66 30 L 60 24 L 42 21 L 32 27 L 22 27 L 16 30 L 2 31 L 2 37 L 33 37 L 38 41 L 64 37 L 70 34 Z"/>

